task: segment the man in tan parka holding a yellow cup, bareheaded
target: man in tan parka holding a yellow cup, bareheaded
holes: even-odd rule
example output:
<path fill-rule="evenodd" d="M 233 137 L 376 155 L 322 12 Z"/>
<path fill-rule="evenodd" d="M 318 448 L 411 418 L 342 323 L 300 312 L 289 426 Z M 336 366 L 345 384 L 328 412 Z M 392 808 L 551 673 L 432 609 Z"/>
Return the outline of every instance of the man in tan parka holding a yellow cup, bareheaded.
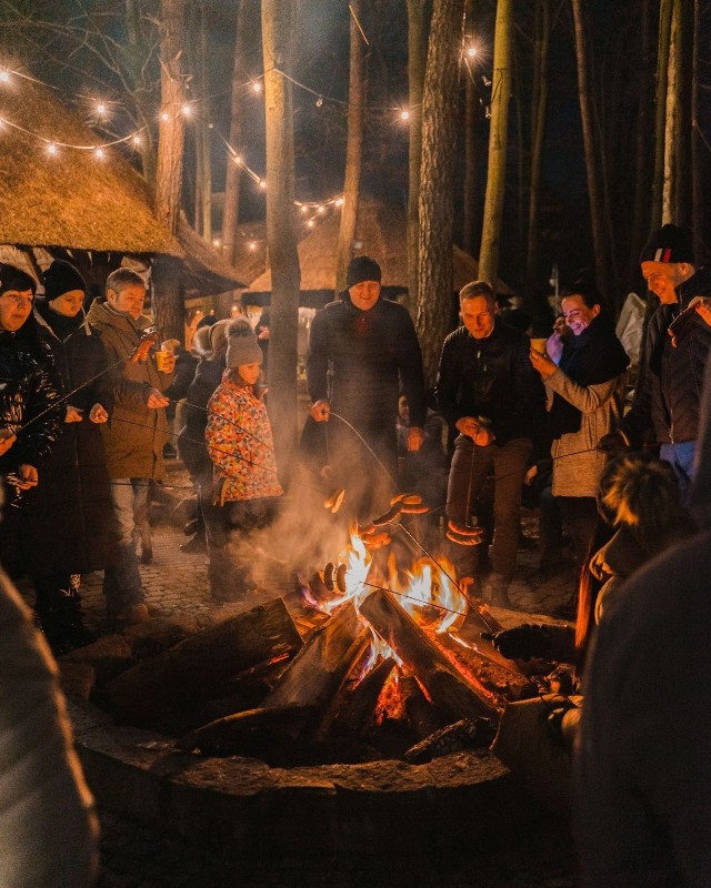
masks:
<path fill-rule="evenodd" d="M 101 336 L 112 371 L 113 412 L 101 426 L 119 528 L 116 563 L 103 575 L 109 619 L 150 619 L 136 554 L 137 524 L 147 522 L 148 488 L 163 474 L 168 434 L 163 392 L 173 379 L 176 356 L 151 353 L 157 336 L 143 314 L 146 284 L 140 274 L 117 269 L 107 279 L 104 301 L 94 300 L 87 315 Z"/>

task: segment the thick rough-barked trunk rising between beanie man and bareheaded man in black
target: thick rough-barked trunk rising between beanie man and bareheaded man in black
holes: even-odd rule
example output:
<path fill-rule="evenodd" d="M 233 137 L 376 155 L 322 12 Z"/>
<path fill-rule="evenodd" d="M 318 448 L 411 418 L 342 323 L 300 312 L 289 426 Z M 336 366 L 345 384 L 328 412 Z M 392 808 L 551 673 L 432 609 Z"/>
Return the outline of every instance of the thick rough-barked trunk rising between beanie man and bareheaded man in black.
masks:
<path fill-rule="evenodd" d="M 434 0 L 422 97 L 417 330 L 424 375 L 434 381 L 452 299 L 457 91 L 464 0 Z"/>

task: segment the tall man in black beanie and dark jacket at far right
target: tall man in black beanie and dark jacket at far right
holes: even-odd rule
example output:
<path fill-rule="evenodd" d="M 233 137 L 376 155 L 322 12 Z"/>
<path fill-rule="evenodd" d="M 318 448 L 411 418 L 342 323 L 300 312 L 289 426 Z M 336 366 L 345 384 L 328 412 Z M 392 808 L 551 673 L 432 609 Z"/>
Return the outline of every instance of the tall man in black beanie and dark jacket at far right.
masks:
<path fill-rule="evenodd" d="M 711 349 L 711 330 L 690 309 L 694 296 L 711 294 L 711 271 L 694 266 L 689 234 L 664 225 L 641 255 L 642 274 L 661 300 L 647 330 L 645 366 L 632 408 L 618 431 L 600 440 L 610 452 L 640 447 L 648 433 L 661 445 L 660 457 L 674 467 L 684 500 L 699 428 L 703 371 Z"/>

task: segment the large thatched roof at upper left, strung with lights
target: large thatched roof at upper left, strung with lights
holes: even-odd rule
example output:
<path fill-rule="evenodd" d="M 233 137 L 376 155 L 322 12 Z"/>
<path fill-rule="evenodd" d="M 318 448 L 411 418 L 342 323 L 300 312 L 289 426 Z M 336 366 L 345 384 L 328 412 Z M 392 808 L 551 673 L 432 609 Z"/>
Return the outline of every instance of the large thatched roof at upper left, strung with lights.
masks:
<path fill-rule="evenodd" d="M 0 118 L 56 142 L 101 140 L 64 108 L 60 93 L 29 80 L 3 84 Z M 154 219 L 150 193 L 122 157 L 59 148 L 50 157 L 33 135 L 6 122 L 0 138 L 0 242 L 117 253 L 181 256 Z"/>

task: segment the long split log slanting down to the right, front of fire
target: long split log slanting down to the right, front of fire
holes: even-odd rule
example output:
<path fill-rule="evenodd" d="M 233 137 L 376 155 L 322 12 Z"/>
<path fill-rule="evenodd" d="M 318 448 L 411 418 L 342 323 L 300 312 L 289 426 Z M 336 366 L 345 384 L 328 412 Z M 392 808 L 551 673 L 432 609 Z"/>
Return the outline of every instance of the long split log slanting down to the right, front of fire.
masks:
<path fill-rule="evenodd" d="M 362 602 L 360 612 L 449 716 L 460 719 L 495 715 L 491 695 L 483 687 L 474 687 L 447 662 L 393 595 L 375 589 Z"/>

